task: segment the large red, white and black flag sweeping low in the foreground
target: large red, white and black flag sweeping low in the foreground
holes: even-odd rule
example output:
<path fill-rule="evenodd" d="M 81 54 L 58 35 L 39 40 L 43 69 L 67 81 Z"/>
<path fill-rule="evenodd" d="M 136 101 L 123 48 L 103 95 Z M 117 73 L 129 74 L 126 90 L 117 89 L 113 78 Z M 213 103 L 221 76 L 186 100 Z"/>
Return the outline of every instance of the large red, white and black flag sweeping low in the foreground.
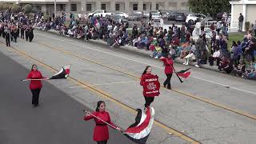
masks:
<path fill-rule="evenodd" d="M 123 134 L 131 141 L 138 144 L 145 144 L 147 138 L 150 136 L 150 131 L 154 122 L 154 108 L 147 107 L 146 113 L 141 109 L 137 109 L 137 116 L 135 123 L 129 126 Z"/>

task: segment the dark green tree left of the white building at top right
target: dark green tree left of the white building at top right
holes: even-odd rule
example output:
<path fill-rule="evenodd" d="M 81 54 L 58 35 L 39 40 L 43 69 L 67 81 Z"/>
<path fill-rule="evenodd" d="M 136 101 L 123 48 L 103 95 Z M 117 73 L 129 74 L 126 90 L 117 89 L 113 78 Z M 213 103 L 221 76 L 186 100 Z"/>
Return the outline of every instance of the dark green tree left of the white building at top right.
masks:
<path fill-rule="evenodd" d="M 218 13 L 230 12 L 229 0 L 189 0 L 188 6 L 194 13 L 210 14 L 213 18 Z"/>

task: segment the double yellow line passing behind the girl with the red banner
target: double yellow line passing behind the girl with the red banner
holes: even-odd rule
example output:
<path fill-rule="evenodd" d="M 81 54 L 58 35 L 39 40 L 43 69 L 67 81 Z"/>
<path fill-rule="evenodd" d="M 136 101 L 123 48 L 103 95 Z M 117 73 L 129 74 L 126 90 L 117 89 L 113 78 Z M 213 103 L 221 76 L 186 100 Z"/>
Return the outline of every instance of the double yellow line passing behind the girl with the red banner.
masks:
<path fill-rule="evenodd" d="M 73 56 L 73 57 L 75 57 L 75 58 L 80 58 L 80 59 L 82 59 L 82 60 L 85 60 L 85 61 L 88 61 L 88 62 L 92 62 L 92 63 L 97 64 L 97 65 L 99 65 L 99 66 L 106 67 L 106 68 L 108 68 L 108 69 L 110 69 L 110 70 L 114 70 L 114 71 L 117 71 L 117 72 L 119 72 L 119 73 L 126 74 L 126 75 L 130 76 L 131 78 L 140 79 L 138 76 L 136 76 L 136 75 L 134 75 L 134 74 L 129 74 L 129 73 L 125 72 L 125 71 L 118 70 L 118 69 L 113 68 L 113 67 L 110 67 L 110 66 L 106 66 L 106 65 L 104 65 L 104 64 L 102 64 L 102 63 L 100 63 L 100 62 L 94 62 L 93 60 L 90 60 L 89 58 L 85 58 L 85 57 L 79 56 L 79 55 L 77 55 L 77 54 L 73 54 L 73 53 L 71 53 L 71 52 L 69 52 L 69 51 L 61 50 L 61 49 L 55 48 L 55 47 L 53 47 L 53 46 L 48 46 L 48 45 L 46 45 L 46 44 L 44 44 L 44 43 L 41 43 L 41 42 L 37 42 L 37 43 L 40 44 L 40 45 L 42 45 L 42 46 L 46 46 L 46 47 L 50 48 L 51 50 L 56 50 L 56 51 L 62 52 L 62 53 L 64 53 L 64 54 L 68 54 L 68 55 L 70 55 L 70 56 Z M 162 88 L 165 88 L 164 86 L 161 86 L 161 87 L 162 87 Z M 165 88 L 165 89 L 166 89 L 166 88 Z M 166 89 L 166 90 L 167 90 L 167 89 Z M 206 103 L 208 103 L 208 104 L 210 104 L 210 105 L 212 105 L 212 106 L 217 106 L 217 107 L 219 107 L 219 108 L 222 108 L 222 109 L 224 109 L 224 110 L 228 110 L 228 111 L 233 112 L 233 113 L 235 113 L 235 114 L 239 114 L 239 115 L 245 116 L 245 117 L 247 117 L 247 118 L 251 118 L 251 119 L 256 120 L 256 116 L 255 116 L 255 115 L 247 114 L 246 112 L 243 112 L 243 111 L 241 111 L 241 110 L 235 110 L 235 109 L 230 108 L 230 107 L 228 107 L 228 106 L 221 105 L 221 104 L 219 104 L 219 103 L 217 103 L 217 102 L 212 102 L 212 101 L 210 101 L 209 99 L 206 99 L 206 98 L 199 98 L 198 96 L 194 96 L 194 95 L 192 95 L 192 94 L 187 94 L 186 92 L 183 92 L 183 91 L 181 91 L 181 90 L 176 90 L 176 89 L 172 89 L 172 90 L 173 90 L 174 92 L 178 93 L 178 94 L 182 94 L 182 95 L 184 95 L 184 96 L 197 99 L 198 101 L 206 102 Z"/>

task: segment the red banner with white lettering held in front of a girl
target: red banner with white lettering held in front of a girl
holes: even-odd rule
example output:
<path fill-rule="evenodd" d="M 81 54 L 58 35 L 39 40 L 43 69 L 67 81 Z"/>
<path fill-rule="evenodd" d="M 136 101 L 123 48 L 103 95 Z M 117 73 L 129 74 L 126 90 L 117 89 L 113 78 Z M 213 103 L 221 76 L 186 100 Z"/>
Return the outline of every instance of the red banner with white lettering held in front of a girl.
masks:
<path fill-rule="evenodd" d="M 143 86 L 143 95 L 147 97 L 154 97 L 160 94 L 160 82 L 157 75 L 150 75 L 146 77 L 145 84 Z"/>

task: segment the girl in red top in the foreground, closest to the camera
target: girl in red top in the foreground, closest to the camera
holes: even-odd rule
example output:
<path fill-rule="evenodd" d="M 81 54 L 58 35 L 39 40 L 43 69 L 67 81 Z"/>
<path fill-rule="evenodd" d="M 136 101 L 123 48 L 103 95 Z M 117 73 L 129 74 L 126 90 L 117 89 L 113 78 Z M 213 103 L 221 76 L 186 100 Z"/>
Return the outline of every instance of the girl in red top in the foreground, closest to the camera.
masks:
<path fill-rule="evenodd" d="M 110 114 L 106 112 L 106 104 L 103 101 L 98 101 L 96 111 L 90 114 L 87 112 L 84 120 L 88 121 L 94 118 L 96 126 L 94 128 L 94 141 L 97 144 L 106 144 L 109 139 L 109 130 L 107 125 L 112 128 L 121 131 L 118 126 L 114 126 L 113 122 L 110 120 Z"/>

